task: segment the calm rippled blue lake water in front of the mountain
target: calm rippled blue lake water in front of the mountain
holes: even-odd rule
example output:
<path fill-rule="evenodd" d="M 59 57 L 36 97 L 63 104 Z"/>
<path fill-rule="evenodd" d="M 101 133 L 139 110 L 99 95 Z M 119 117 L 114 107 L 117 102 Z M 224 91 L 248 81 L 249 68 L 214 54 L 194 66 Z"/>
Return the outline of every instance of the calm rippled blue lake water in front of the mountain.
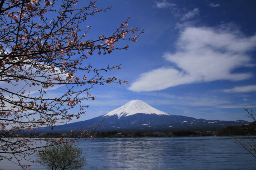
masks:
<path fill-rule="evenodd" d="M 253 169 L 255 159 L 232 137 L 80 140 L 88 170 Z M 0 168 L 20 169 L 10 162 Z M 32 164 L 32 170 L 46 169 Z"/>

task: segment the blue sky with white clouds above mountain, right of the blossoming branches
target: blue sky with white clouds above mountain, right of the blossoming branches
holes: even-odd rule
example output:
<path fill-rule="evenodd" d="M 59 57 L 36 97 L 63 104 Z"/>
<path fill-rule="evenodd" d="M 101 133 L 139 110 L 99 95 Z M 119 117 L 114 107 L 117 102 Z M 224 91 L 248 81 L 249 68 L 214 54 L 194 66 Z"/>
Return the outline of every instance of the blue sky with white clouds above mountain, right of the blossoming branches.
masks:
<path fill-rule="evenodd" d="M 144 33 L 137 42 L 118 42 L 128 44 L 128 51 L 88 59 L 97 67 L 122 64 L 104 75 L 129 84 L 94 86 L 90 93 L 96 99 L 84 101 L 90 107 L 79 121 L 137 99 L 174 115 L 250 121 L 242 106 L 256 108 L 255 1 L 98 0 L 96 5 L 112 10 L 88 19 L 88 37 L 110 34 L 129 16 L 128 27 Z"/>

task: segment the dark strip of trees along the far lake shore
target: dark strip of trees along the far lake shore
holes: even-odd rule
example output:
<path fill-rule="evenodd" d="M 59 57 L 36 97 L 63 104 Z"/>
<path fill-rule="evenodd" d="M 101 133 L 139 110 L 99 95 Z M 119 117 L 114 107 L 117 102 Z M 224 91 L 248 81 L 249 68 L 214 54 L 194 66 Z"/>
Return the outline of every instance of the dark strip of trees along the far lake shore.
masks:
<path fill-rule="evenodd" d="M 177 130 L 177 131 L 103 131 L 92 133 L 91 137 L 96 138 L 120 138 L 120 137 L 198 137 L 198 136 L 244 136 L 256 134 L 256 123 L 241 126 L 228 126 L 223 129 L 202 129 L 201 131 Z M 76 137 L 78 134 L 73 134 L 70 137 Z M 5 137 L 8 137 L 6 135 Z M 49 137 L 60 138 L 60 133 L 27 133 L 18 134 L 18 137 Z"/>

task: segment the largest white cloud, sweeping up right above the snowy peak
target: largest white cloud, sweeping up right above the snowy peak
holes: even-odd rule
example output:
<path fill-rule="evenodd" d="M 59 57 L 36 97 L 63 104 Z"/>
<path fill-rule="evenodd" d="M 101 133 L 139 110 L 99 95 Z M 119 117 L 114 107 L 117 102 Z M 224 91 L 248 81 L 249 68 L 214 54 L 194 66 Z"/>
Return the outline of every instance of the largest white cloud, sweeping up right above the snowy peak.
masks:
<path fill-rule="evenodd" d="M 256 35 L 245 37 L 209 27 L 187 27 L 176 42 L 176 53 L 164 59 L 176 65 L 163 66 L 141 74 L 128 88 L 134 92 L 163 90 L 180 84 L 215 80 L 240 81 L 252 77 L 250 72 L 233 72 L 254 66 L 248 51 L 256 47 Z"/>

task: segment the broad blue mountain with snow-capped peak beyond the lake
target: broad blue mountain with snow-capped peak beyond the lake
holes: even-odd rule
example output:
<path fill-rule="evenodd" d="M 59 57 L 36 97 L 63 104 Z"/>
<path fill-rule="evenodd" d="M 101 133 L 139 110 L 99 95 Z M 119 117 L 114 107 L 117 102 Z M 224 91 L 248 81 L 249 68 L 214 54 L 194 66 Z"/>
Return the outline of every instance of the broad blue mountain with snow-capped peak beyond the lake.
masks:
<path fill-rule="evenodd" d="M 66 125 L 58 125 L 50 130 L 50 127 L 42 127 L 38 131 L 41 133 L 58 132 L 66 133 L 72 129 L 87 129 L 92 125 L 99 125 L 102 120 L 104 124 L 98 131 L 163 131 L 163 130 L 200 130 L 200 129 L 219 129 L 230 125 L 248 124 L 244 120 L 220 121 L 196 119 L 181 115 L 172 115 L 142 102 L 132 100 L 113 111 L 104 115 Z"/>

